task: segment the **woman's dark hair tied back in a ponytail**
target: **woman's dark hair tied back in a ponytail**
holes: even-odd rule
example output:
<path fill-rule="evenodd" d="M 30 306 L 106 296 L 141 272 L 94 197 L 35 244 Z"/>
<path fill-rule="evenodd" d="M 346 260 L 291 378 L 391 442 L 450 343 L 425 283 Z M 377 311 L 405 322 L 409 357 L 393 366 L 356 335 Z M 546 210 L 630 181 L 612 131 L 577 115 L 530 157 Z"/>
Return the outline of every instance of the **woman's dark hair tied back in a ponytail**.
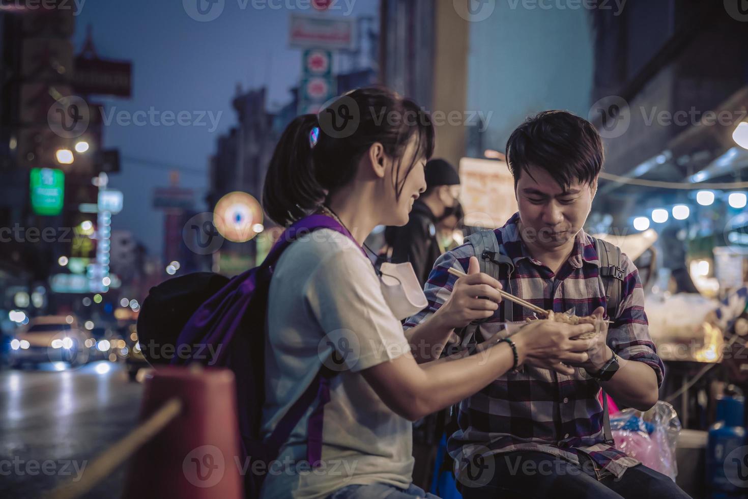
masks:
<path fill-rule="evenodd" d="M 313 132 L 319 133 L 316 144 Z M 393 185 L 399 197 L 417 160 L 434 152 L 434 135 L 428 114 L 412 100 L 384 88 L 349 92 L 319 115 L 303 114 L 286 126 L 265 177 L 263 208 L 283 226 L 307 215 L 353 180 L 358 160 L 375 142 L 396 162 Z M 411 139 L 416 154 L 403 169 L 402 155 Z"/>

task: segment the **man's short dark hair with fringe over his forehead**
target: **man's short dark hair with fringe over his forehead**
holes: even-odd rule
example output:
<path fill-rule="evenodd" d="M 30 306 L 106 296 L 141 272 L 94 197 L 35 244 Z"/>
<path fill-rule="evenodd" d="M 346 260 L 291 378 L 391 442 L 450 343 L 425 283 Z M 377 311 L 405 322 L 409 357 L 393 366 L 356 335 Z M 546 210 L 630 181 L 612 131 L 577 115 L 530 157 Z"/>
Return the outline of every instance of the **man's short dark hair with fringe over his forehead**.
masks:
<path fill-rule="evenodd" d="M 506 141 L 506 162 L 515 186 L 530 165 L 542 168 L 564 189 L 591 183 L 603 165 L 603 145 L 589 121 L 567 111 L 543 111 L 525 120 Z"/>

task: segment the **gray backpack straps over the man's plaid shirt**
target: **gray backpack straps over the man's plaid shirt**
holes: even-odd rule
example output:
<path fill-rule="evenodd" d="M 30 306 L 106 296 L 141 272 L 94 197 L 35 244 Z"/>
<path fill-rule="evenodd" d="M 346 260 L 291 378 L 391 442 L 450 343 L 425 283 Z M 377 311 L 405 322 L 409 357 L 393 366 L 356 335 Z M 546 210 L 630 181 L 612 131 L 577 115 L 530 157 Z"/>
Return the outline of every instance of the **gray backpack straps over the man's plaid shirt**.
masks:
<path fill-rule="evenodd" d="M 622 286 L 625 278 L 622 269 L 621 259 L 621 248 L 610 242 L 604 241 L 593 237 L 592 240 L 595 242 L 595 251 L 597 251 L 598 258 L 600 259 L 600 279 L 605 290 L 605 297 L 607 300 L 607 315 L 610 319 L 614 319 L 619 315 L 619 306 L 621 304 Z M 502 263 L 508 265 L 510 269 L 514 268 L 512 259 L 506 257 L 506 255 L 500 254 L 499 242 L 496 239 L 496 234 L 493 230 L 479 230 L 476 233 L 470 234 L 465 242 L 470 242 L 475 248 L 476 257 L 480 263 L 480 272 L 490 275 L 492 278 L 499 280 L 500 265 Z M 509 289 L 507 293 L 512 293 L 512 283 L 509 281 Z M 512 293 L 513 294 L 513 293 Z M 504 307 L 504 321 L 512 322 L 512 302 L 509 300 L 503 300 Z M 472 331 L 465 331 L 465 337 L 463 340 L 463 346 L 466 346 L 468 342 L 473 340 L 473 335 L 477 331 L 479 325 L 474 325 Z M 470 328 L 470 326 L 468 326 Z M 603 393 L 603 429 L 605 435 L 605 441 L 607 444 L 613 444 L 613 434 L 610 432 L 610 414 L 608 414 L 607 396 Z"/>

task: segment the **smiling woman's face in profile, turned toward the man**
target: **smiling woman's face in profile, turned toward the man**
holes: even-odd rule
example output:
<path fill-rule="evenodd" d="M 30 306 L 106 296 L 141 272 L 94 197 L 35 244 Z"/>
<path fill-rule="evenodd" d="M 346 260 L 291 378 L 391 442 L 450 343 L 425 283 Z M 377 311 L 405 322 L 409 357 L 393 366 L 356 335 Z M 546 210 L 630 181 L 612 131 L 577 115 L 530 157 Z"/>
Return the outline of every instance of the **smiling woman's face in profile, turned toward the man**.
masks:
<path fill-rule="evenodd" d="M 415 137 L 411 138 L 408 142 L 408 146 L 405 147 L 405 153 L 400 159 L 400 180 L 402 184 L 402 191 L 400 192 L 399 198 L 396 193 L 398 187 L 396 186 L 396 168 L 397 162 L 390 160 L 389 174 L 385 175 L 385 182 L 391 186 L 387 189 L 386 204 L 381 206 L 381 213 L 386 216 L 386 220 L 383 221 L 384 225 L 405 225 L 408 223 L 408 217 L 410 216 L 411 209 L 413 209 L 413 203 L 418 199 L 420 193 L 426 190 L 426 175 L 424 168 L 426 167 L 426 158 L 417 158 L 413 164 L 413 168 L 410 173 L 407 173 L 408 167 L 413 163 L 414 156 L 417 151 Z M 407 174 L 407 177 L 405 175 Z M 403 182 L 402 177 L 405 177 Z M 387 178 L 389 180 L 387 180 Z"/>

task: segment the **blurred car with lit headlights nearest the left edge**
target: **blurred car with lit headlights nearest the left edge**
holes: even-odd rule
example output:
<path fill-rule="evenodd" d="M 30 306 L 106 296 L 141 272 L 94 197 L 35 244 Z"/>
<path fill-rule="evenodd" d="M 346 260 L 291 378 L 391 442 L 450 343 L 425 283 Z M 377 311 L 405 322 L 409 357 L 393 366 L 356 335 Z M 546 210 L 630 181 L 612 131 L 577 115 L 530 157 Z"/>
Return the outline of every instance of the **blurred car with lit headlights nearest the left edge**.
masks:
<path fill-rule="evenodd" d="M 39 316 L 29 319 L 10 340 L 10 366 L 67 362 L 80 365 L 91 356 L 91 333 L 74 316 Z"/>

